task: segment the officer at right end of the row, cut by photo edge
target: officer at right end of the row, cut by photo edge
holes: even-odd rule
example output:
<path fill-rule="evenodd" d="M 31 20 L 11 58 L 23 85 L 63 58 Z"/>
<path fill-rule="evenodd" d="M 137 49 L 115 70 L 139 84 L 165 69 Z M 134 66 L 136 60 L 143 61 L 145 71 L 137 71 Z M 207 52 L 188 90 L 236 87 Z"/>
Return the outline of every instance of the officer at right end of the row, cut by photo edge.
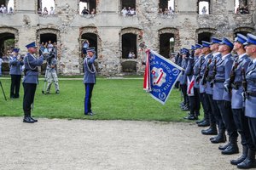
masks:
<path fill-rule="evenodd" d="M 255 150 L 256 150 L 256 36 L 247 34 L 246 53 L 253 60 L 246 71 L 247 91 L 244 92 L 245 100 L 245 116 L 248 119 L 250 129 L 249 139 L 252 139 L 253 145 L 247 144 L 247 158 L 237 164 L 238 168 L 248 169 L 256 167 Z M 245 81 L 245 80 L 244 80 Z"/>

